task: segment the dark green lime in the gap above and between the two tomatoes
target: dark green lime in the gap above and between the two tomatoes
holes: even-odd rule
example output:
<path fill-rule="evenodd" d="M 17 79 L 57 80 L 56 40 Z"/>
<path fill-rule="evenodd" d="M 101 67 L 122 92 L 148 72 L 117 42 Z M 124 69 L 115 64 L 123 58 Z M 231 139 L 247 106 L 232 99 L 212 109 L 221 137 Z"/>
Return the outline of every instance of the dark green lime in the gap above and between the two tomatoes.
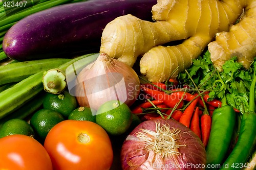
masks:
<path fill-rule="evenodd" d="M 63 120 L 65 120 L 64 117 L 55 110 L 40 109 L 32 115 L 30 125 L 39 139 L 45 140 L 52 127 Z"/>

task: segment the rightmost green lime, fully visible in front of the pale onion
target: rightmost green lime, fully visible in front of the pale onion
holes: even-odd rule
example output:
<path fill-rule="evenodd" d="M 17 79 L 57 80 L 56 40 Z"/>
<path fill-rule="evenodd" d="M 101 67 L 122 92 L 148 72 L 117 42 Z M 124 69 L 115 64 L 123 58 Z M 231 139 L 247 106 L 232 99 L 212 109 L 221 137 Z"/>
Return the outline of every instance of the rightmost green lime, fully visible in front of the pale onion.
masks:
<path fill-rule="evenodd" d="M 108 101 L 97 110 L 96 123 L 111 135 L 121 135 L 132 123 L 132 112 L 125 103 Z"/>

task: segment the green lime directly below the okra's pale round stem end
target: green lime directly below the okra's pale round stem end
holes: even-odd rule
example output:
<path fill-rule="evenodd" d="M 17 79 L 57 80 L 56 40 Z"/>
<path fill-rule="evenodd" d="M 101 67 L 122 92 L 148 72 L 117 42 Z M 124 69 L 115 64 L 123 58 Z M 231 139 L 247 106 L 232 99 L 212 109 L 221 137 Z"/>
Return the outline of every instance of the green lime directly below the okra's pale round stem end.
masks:
<path fill-rule="evenodd" d="M 63 117 L 68 118 L 70 113 L 77 108 L 75 96 L 68 91 L 63 91 L 60 94 L 47 93 L 43 106 L 45 109 L 56 110 Z"/>

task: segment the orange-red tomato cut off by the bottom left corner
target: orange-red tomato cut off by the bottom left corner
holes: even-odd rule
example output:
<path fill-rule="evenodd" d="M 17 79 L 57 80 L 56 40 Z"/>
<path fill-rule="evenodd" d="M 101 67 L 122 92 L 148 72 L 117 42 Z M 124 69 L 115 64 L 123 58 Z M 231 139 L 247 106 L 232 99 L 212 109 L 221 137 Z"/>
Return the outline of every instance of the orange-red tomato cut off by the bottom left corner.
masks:
<path fill-rule="evenodd" d="M 9 135 L 0 139 L 0 169 L 51 170 L 45 148 L 26 135 Z"/>

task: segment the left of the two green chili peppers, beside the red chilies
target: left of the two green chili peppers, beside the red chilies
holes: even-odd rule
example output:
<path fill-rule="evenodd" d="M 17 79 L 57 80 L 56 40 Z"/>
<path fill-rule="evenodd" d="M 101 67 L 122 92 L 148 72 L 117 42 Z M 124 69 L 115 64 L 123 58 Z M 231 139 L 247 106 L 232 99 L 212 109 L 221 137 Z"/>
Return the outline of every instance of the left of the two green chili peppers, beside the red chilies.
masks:
<path fill-rule="evenodd" d="M 211 131 L 206 148 L 207 168 L 218 169 L 229 149 L 233 129 L 236 125 L 236 112 L 222 100 L 222 107 L 214 110 Z"/>

